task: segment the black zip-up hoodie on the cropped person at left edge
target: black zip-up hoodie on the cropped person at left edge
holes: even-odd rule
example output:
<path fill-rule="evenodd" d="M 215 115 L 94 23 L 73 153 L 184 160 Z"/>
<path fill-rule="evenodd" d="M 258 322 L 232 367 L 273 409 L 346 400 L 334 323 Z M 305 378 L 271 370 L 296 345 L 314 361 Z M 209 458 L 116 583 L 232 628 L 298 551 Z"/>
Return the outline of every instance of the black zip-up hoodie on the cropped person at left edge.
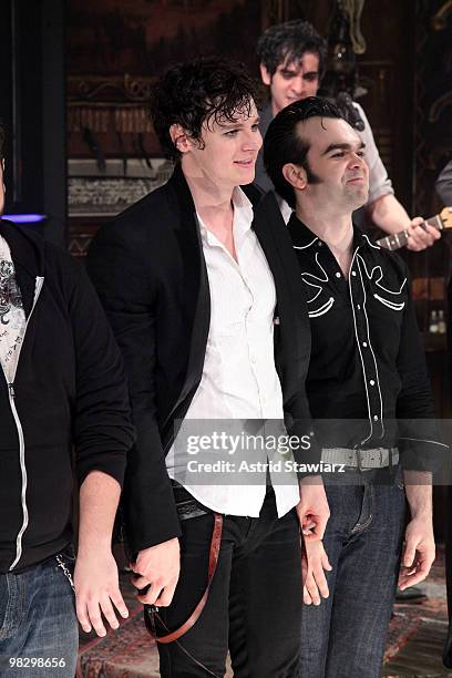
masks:
<path fill-rule="evenodd" d="M 0 369 L 4 573 L 71 541 L 72 443 L 79 483 L 93 470 L 121 483 L 134 435 L 121 356 L 82 267 L 27 227 L 0 220 L 0 235 L 28 319 L 12 384 Z"/>

